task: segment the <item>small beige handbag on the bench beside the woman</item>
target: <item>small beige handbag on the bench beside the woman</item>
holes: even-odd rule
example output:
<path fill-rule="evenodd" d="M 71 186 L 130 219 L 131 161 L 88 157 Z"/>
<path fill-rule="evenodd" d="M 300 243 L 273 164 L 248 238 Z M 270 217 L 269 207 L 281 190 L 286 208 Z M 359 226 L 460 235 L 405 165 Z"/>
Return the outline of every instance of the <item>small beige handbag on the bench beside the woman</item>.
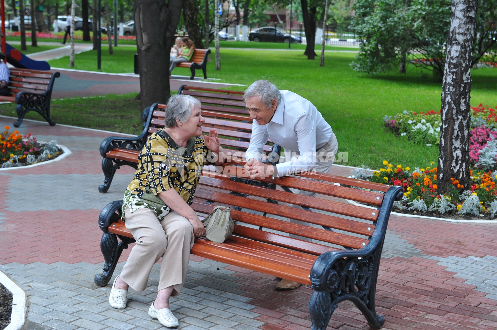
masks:
<path fill-rule="evenodd" d="M 235 223 L 231 218 L 231 209 L 221 205 L 214 207 L 212 212 L 202 220 L 202 223 L 207 239 L 216 243 L 226 241 L 235 229 Z"/>

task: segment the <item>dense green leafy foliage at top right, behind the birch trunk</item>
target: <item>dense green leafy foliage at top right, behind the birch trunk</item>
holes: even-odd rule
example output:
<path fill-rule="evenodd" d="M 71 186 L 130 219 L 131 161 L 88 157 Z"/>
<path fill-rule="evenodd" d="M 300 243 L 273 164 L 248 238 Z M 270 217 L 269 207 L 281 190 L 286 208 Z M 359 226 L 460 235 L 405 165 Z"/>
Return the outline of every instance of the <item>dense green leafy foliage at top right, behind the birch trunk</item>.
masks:
<path fill-rule="evenodd" d="M 497 3 L 478 0 L 471 65 L 488 55 L 497 58 L 493 31 L 497 24 Z M 357 0 L 351 26 L 361 40 L 360 52 L 351 66 L 376 74 L 390 70 L 404 59 L 415 66 L 443 76 L 450 0 Z"/>

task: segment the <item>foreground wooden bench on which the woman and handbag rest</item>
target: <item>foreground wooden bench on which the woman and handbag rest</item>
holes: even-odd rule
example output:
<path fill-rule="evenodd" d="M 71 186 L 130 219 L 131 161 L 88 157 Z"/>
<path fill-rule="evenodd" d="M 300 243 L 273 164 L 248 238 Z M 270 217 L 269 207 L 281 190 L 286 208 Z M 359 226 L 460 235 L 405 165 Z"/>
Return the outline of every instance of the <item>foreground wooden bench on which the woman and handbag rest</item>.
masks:
<path fill-rule="evenodd" d="M 326 175 L 325 182 L 297 177 L 260 180 L 278 187 L 270 189 L 234 180 L 239 178 L 247 178 L 241 167 L 226 165 L 217 167 L 216 172 L 204 168 L 191 206 L 200 217 L 216 205 L 230 206 L 237 223 L 226 242 L 218 244 L 205 237 L 197 238 L 191 253 L 312 285 L 309 308 L 313 330 L 325 330 L 336 305 L 343 300 L 352 301 L 372 329 L 381 328 L 384 319 L 375 311 L 376 282 L 391 208 L 402 197 L 402 187 L 332 175 Z M 295 195 L 284 191 L 288 188 L 319 195 Z M 233 196 L 232 192 L 246 197 Z M 344 198 L 377 209 L 354 206 Z M 122 200 L 107 204 L 98 219 L 105 260 L 103 273 L 96 274 L 94 279 L 99 286 L 107 285 L 123 249 L 135 242 L 121 221 L 121 206 Z M 308 221 L 311 225 L 290 223 L 285 218 Z M 313 240 L 290 238 L 288 234 Z"/>

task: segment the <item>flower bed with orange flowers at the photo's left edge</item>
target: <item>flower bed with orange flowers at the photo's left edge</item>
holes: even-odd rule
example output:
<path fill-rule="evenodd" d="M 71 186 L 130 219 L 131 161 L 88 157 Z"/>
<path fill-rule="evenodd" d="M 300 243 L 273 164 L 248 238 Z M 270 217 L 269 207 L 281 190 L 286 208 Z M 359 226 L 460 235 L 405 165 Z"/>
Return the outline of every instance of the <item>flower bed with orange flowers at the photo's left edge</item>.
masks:
<path fill-rule="evenodd" d="M 56 140 L 40 144 L 31 133 L 22 135 L 17 131 L 9 132 L 9 129 L 5 126 L 5 131 L 0 133 L 1 168 L 32 165 L 54 159 L 63 153 L 57 147 Z"/>

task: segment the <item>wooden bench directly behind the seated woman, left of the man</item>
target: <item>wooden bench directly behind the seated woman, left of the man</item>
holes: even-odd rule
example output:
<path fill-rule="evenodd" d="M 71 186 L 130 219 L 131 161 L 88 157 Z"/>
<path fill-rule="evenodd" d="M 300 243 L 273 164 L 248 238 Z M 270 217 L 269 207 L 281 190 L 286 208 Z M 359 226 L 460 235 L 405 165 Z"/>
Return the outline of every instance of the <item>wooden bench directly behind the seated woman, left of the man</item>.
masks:
<path fill-rule="evenodd" d="M 186 90 L 182 86 L 180 92 Z M 240 95 L 243 93 L 220 89 L 209 90 L 209 94 L 214 95 L 211 98 L 197 97 L 202 102 L 202 116 L 205 118 L 202 132 L 208 133 L 211 128 L 215 128 L 220 135 L 221 146 L 232 157 L 233 162 L 241 161 L 245 159 L 245 150 L 248 148 L 252 131 L 252 121 Z M 229 95 L 237 95 L 238 101 L 226 100 L 225 98 Z M 166 105 L 159 103 L 145 111 L 144 130 L 136 137 L 110 136 L 102 141 L 100 154 L 103 157 L 104 183 L 98 187 L 100 193 L 104 194 L 108 191 L 118 168 L 124 165 L 137 168 L 138 154 L 147 138 L 164 127 L 164 111 L 166 111 Z M 264 147 L 265 152 L 274 151 L 279 154 L 279 150 L 280 147 L 270 141 Z"/>

